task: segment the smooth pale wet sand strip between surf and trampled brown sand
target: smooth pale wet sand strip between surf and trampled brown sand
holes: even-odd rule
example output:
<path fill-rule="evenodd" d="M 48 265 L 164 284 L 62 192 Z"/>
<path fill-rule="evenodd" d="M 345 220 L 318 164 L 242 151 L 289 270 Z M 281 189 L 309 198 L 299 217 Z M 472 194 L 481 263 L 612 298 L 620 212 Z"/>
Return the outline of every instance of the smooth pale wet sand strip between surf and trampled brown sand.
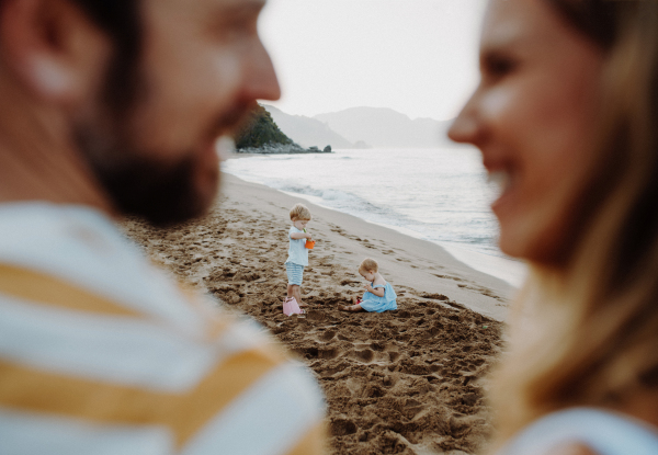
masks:
<path fill-rule="evenodd" d="M 297 202 L 306 204 L 314 216 L 309 230 L 318 240 L 316 251 L 324 248 L 325 243 L 330 249 L 336 249 L 332 252 L 337 259 L 351 264 L 355 280 L 359 278 L 355 270 L 361 260 L 372 257 L 392 283 L 420 292 L 443 294 L 483 316 L 498 321 L 506 319 L 508 302 L 517 288 L 501 278 L 475 270 L 438 243 L 413 238 L 396 229 L 232 174 L 223 172 L 222 178 L 222 194 L 229 200 L 239 201 L 241 205 L 256 205 L 258 209 L 275 214 L 281 219 L 282 229 L 287 229 L 290 224 L 290 207 Z M 265 201 L 266 204 L 260 204 Z M 339 248 L 334 248 L 334 244 Z M 287 251 L 287 246 L 284 249 Z"/>

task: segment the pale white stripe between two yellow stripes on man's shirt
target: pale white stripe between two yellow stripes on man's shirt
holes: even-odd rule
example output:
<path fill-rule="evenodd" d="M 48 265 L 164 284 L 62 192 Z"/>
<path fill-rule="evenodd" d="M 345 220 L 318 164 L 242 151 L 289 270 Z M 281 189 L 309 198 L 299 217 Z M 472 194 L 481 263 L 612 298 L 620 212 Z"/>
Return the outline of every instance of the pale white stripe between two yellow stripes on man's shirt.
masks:
<path fill-rule="evenodd" d="M 227 326 L 207 341 L 157 321 L 57 310 L 1 297 L 0 356 L 89 379 L 182 391 L 225 356 L 266 343 L 246 323 Z"/>

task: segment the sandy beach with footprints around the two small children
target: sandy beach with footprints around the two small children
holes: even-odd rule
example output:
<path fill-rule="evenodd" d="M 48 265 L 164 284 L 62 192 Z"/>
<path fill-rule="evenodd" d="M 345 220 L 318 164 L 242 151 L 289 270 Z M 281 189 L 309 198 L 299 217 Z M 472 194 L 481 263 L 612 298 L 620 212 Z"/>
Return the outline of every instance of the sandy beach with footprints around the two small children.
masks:
<path fill-rule="evenodd" d="M 159 230 L 124 229 L 178 278 L 242 311 L 307 364 L 328 402 L 330 453 L 462 454 L 491 432 L 485 374 L 501 350 L 514 288 L 475 271 L 440 246 L 269 187 L 223 174 L 203 219 Z M 314 216 L 317 240 L 304 274 L 305 317 L 286 317 L 288 211 Z M 363 293 L 366 257 L 398 294 L 398 310 L 337 309 Z"/>

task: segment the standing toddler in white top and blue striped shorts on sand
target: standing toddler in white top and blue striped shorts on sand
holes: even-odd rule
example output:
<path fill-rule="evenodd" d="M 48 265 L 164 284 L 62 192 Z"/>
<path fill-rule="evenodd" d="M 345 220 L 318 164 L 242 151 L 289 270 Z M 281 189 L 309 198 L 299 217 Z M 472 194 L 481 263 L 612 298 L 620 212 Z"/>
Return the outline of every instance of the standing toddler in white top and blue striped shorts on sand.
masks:
<path fill-rule="evenodd" d="M 302 303 L 300 286 L 304 268 L 308 265 L 306 240 L 310 240 L 311 236 L 306 231 L 306 225 L 310 221 L 310 211 L 303 204 L 295 205 L 291 209 L 291 221 L 293 221 L 293 226 L 291 226 L 288 231 L 288 257 L 285 261 L 285 270 L 288 277 L 286 303 L 292 303 L 292 307 L 294 308 L 297 305 L 306 306 Z M 284 304 L 284 310 L 285 307 L 286 305 Z"/>

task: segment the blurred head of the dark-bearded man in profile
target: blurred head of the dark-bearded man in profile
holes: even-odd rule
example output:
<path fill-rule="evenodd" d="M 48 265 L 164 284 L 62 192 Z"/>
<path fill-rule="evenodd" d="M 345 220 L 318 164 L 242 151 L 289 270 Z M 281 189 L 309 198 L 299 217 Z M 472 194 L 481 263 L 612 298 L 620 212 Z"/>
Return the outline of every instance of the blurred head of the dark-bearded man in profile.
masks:
<path fill-rule="evenodd" d="M 263 4 L 0 0 L 0 83 L 57 113 L 118 212 L 186 219 L 217 191 L 216 139 L 280 95 L 257 33 Z"/>

